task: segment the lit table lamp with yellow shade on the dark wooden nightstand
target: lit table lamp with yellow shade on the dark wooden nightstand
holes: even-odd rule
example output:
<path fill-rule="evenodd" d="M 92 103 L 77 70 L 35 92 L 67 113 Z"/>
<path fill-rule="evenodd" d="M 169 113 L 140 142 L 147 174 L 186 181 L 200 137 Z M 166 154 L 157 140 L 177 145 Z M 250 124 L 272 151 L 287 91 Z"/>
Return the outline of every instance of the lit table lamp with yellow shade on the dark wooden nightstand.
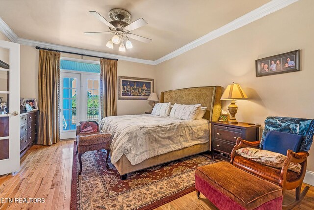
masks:
<path fill-rule="evenodd" d="M 237 106 L 235 105 L 235 100 L 248 99 L 243 89 L 238 83 L 233 83 L 227 86 L 226 90 L 222 94 L 220 100 L 231 100 L 230 105 L 228 106 L 228 111 L 231 115 L 229 123 L 238 123 L 235 118 L 237 113 Z"/>

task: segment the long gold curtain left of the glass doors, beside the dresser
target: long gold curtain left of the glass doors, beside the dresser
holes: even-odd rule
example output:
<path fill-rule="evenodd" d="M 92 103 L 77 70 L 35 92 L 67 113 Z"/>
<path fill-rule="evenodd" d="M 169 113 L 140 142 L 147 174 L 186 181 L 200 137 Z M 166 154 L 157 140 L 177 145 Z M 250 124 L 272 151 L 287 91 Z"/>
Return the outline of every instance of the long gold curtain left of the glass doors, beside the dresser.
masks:
<path fill-rule="evenodd" d="M 38 144 L 59 141 L 60 53 L 39 50 L 39 129 Z"/>

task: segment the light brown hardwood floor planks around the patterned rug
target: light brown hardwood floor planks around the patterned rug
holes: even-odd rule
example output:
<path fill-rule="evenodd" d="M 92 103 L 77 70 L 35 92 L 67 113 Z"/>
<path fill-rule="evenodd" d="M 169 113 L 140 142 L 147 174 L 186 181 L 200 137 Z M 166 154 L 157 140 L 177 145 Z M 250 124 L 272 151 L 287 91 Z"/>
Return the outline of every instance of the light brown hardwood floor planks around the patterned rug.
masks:
<path fill-rule="evenodd" d="M 0 203 L 0 210 L 69 210 L 71 195 L 73 140 L 52 146 L 34 145 L 21 159 L 15 176 L 0 176 L 0 198 L 45 198 L 45 203 Z M 303 187 L 306 184 L 303 184 Z M 294 191 L 286 200 L 293 199 Z M 314 209 L 314 187 L 294 210 Z M 171 201 L 157 210 L 217 210 L 196 192 Z"/>

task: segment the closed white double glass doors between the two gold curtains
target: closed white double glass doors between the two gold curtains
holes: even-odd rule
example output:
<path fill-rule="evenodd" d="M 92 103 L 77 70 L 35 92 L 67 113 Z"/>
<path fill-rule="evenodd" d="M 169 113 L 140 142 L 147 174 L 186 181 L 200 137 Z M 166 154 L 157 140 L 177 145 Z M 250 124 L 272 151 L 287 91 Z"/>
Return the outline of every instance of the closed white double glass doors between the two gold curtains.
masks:
<path fill-rule="evenodd" d="M 60 139 L 75 138 L 80 121 L 99 121 L 99 75 L 67 71 L 60 80 Z"/>

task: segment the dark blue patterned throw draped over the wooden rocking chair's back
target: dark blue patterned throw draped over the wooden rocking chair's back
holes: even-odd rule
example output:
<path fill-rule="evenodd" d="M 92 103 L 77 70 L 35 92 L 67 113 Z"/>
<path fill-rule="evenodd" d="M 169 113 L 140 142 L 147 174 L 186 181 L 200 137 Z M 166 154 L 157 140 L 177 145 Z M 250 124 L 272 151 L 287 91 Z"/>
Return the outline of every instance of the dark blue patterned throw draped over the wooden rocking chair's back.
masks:
<path fill-rule="evenodd" d="M 267 117 L 260 142 L 261 149 L 263 149 L 264 139 L 270 130 L 303 136 L 299 151 L 308 152 L 313 141 L 314 120 L 305 118 Z"/>

